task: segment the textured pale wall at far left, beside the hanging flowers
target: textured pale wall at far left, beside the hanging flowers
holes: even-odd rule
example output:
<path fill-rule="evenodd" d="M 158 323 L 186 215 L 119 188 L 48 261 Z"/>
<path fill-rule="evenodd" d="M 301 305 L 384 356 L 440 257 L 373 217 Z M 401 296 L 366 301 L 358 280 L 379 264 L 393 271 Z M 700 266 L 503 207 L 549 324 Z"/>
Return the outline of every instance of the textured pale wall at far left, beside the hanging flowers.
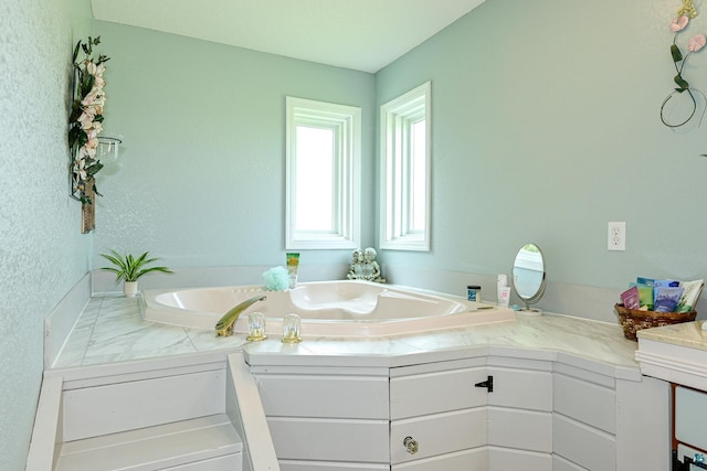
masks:
<path fill-rule="evenodd" d="M 22 470 L 42 379 L 43 321 L 89 268 L 68 199 L 76 0 L 0 0 L 0 469 Z"/>

